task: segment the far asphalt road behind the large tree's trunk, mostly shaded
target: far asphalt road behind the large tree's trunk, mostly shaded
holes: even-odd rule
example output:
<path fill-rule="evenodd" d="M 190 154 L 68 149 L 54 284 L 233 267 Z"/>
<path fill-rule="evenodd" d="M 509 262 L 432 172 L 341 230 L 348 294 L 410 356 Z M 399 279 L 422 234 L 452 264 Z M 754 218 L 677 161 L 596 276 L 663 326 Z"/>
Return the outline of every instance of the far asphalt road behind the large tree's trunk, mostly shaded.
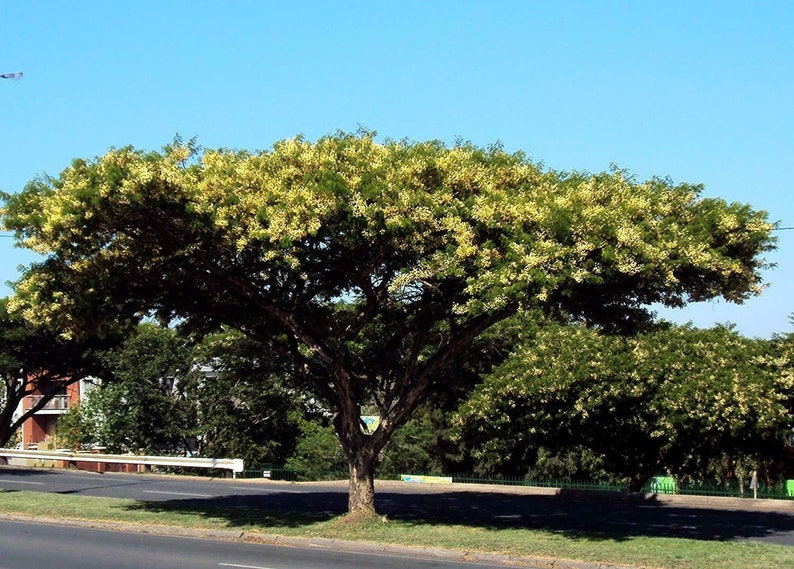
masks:
<path fill-rule="evenodd" d="M 340 484 L 288 484 L 266 481 L 206 480 L 146 475 L 95 474 L 62 470 L 0 468 L 0 490 L 139 500 L 154 512 L 207 512 L 221 507 L 258 509 L 282 523 L 292 512 L 327 519 L 347 509 Z M 794 509 L 752 510 L 685 506 L 643 496 L 571 493 L 558 496 L 480 492 L 450 487 L 389 485 L 376 493 L 379 513 L 415 523 L 454 523 L 480 527 L 519 527 L 593 539 L 635 536 L 699 540 L 758 540 L 794 546 Z M 234 523 L 234 519 L 230 518 Z"/>

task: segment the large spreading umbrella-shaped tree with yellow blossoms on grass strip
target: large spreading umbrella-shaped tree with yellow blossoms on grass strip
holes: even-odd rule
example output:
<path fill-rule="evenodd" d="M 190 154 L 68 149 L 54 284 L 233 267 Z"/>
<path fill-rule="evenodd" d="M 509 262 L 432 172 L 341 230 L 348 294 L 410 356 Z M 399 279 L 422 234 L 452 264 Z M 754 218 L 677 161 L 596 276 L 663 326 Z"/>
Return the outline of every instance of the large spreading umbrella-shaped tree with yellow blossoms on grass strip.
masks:
<path fill-rule="evenodd" d="M 288 358 L 334 414 L 351 512 L 374 510 L 379 451 L 484 330 L 526 309 L 630 327 L 652 303 L 742 301 L 772 247 L 765 213 L 699 186 L 497 146 L 194 151 L 111 150 L 6 196 L 5 227 L 46 256 L 16 286 L 25 316 L 77 334 L 154 313 Z"/>

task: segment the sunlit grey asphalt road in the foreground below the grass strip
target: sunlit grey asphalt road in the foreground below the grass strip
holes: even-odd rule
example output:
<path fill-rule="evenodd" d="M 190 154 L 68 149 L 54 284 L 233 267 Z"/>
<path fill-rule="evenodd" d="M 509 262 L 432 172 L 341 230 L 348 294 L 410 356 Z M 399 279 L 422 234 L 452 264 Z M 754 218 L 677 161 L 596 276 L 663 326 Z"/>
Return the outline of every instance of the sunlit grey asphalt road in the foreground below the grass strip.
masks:
<path fill-rule="evenodd" d="M 283 547 L 0 521 L 0 569 L 495 569 L 331 547 Z"/>

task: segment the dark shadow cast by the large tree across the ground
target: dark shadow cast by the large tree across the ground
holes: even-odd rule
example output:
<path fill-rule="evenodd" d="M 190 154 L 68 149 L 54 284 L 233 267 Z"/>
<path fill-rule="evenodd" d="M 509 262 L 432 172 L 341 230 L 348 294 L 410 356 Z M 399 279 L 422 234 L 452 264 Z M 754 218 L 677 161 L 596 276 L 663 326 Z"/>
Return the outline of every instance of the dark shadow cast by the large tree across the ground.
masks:
<path fill-rule="evenodd" d="M 673 537 L 709 541 L 759 539 L 794 545 L 794 514 L 662 504 L 617 493 L 525 496 L 484 492 L 379 492 L 379 514 L 416 526 L 533 529 L 592 540 Z M 212 499 L 138 502 L 133 509 L 223 519 L 265 531 L 328 521 L 347 512 L 343 492 L 271 492 Z"/>

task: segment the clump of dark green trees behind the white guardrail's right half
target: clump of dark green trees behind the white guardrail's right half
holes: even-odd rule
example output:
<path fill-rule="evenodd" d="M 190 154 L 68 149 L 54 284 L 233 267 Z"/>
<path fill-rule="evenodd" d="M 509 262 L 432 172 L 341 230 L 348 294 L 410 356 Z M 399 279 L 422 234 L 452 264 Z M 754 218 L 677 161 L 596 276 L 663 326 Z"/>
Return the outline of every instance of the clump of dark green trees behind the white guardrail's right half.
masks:
<path fill-rule="evenodd" d="M 281 464 L 315 412 L 285 383 L 283 362 L 234 331 L 195 345 L 146 323 L 103 360 L 105 381 L 59 420 L 69 447 Z"/>

